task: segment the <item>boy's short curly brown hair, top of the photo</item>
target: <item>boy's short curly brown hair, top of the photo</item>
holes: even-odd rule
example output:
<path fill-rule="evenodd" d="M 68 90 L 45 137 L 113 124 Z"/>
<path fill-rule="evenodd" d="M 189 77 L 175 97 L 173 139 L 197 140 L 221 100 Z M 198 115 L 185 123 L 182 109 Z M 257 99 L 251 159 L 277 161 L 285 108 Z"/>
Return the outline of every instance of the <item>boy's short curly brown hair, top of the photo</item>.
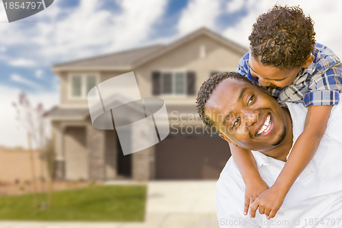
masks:
<path fill-rule="evenodd" d="M 315 46 L 313 24 L 298 6 L 274 5 L 252 27 L 248 37 L 252 56 L 266 66 L 302 66 Z"/>

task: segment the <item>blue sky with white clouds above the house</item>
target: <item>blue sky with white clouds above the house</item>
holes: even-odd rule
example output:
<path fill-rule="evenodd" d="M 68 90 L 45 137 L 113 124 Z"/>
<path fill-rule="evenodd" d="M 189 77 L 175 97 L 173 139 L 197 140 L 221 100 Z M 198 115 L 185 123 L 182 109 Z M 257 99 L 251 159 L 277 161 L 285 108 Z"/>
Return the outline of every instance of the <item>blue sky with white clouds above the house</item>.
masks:
<path fill-rule="evenodd" d="M 8 23 L 0 2 L 0 145 L 26 147 L 12 102 L 20 91 L 49 110 L 58 104 L 51 66 L 104 53 L 167 44 L 207 27 L 248 47 L 248 35 L 270 0 L 55 0 L 46 10 Z M 316 40 L 342 56 L 342 1 L 279 0 L 315 21 Z"/>

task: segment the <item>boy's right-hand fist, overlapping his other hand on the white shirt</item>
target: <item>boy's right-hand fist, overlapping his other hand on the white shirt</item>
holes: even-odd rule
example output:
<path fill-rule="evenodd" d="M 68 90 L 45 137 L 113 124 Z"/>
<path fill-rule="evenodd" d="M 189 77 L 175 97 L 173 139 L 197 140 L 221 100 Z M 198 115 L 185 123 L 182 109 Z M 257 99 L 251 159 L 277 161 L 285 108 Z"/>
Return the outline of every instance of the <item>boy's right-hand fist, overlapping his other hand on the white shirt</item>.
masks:
<path fill-rule="evenodd" d="M 286 194 L 283 194 L 280 190 L 276 190 L 274 186 L 265 190 L 250 205 L 250 217 L 255 218 L 255 212 L 259 207 L 260 214 L 265 214 L 267 219 L 273 218 L 284 202 L 285 196 Z"/>

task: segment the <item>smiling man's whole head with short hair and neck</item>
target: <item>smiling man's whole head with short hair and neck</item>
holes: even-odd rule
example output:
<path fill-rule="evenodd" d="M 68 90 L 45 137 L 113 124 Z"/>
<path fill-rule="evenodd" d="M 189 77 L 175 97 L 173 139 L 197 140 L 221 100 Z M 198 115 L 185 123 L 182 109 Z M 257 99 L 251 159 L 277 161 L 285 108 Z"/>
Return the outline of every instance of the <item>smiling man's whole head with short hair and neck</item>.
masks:
<path fill-rule="evenodd" d="M 198 109 L 202 120 L 228 142 L 286 161 L 292 145 L 289 111 L 239 73 L 220 73 L 203 86 L 209 84 L 216 87 L 198 96 L 198 104 L 205 102 Z"/>

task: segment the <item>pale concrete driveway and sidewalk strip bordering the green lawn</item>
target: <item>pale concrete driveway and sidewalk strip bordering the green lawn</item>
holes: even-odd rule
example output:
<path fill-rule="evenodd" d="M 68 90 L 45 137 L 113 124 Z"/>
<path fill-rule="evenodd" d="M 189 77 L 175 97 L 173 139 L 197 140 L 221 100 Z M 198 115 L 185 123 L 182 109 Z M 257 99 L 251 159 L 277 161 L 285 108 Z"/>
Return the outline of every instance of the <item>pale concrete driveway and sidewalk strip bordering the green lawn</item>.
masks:
<path fill-rule="evenodd" d="M 4 221 L 0 228 L 216 228 L 215 220 L 215 181 L 150 181 L 142 223 Z"/>

